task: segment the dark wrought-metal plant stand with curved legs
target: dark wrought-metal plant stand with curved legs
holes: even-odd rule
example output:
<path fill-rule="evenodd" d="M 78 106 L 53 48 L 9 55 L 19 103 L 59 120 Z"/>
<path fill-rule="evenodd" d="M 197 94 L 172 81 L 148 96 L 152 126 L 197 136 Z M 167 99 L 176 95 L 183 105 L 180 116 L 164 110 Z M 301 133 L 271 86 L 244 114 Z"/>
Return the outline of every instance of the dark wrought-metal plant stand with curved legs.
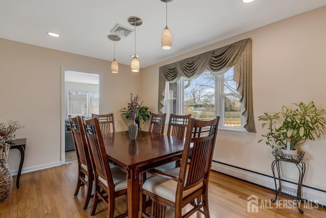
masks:
<path fill-rule="evenodd" d="M 271 199 L 271 202 L 275 203 L 278 195 L 283 195 L 286 197 L 290 197 L 296 200 L 296 206 L 300 213 L 304 213 L 302 209 L 300 209 L 300 200 L 301 198 L 301 188 L 302 182 L 304 179 L 306 164 L 303 161 L 305 152 L 298 151 L 297 156 L 284 154 L 280 148 L 276 148 L 273 150 L 272 154 L 275 157 L 275 160 L 271 163 L 271 171 L 273 171 L 274 182 L 275 182 L 275 199 Z M 297 189 L 288 188 L 281 185 L 281 176 L 280 176 L 280 161 L 285 161 L 289 163 L 293 163 L 296 165 L 299 171 L 299 178 L 297 183 Z M 275 177 L 275 166 L 277 168 L 279 184 L 277 185 L 276 177 Z"/>

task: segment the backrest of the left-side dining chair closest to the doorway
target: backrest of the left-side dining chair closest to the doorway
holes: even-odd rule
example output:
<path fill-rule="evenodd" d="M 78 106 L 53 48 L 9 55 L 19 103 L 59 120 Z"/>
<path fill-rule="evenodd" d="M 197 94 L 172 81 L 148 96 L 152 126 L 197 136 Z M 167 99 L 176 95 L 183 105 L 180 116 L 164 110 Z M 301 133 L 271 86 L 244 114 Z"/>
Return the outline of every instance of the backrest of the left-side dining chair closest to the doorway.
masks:
<path fill-rule="evenodd" d="M 86 165 L 88 168 L 92 168 L 90 154 L 88 152 L 87 142 L 85 138 L 85 132 L 83 128 L 82 118 L 80 116 L 69 117 L 71 133 L 73 138 L 73 143 L 76 150 L 77 161 Z"/>

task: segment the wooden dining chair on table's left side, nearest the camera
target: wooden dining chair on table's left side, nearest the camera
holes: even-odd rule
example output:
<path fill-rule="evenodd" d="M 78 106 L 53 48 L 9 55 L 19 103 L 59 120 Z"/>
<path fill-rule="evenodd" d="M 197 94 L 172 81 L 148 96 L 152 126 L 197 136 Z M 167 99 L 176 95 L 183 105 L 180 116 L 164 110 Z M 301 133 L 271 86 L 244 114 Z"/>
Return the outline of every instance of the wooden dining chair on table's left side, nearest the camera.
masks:
<path fill-rule="evenodd" d="M 115 198 L 122 195 L 127 196 L 126 173 L 118 167 L 109 167 L 98 119 L 83 117 L 82 121 L 94 172 L 95 191 L 91 215 L 95 214 L 100 199 L 107 204 L 107 217 L 112 218 L 115 210 Z M 117 217 L 126 216 L 128 216 L 127 212 Z"/>

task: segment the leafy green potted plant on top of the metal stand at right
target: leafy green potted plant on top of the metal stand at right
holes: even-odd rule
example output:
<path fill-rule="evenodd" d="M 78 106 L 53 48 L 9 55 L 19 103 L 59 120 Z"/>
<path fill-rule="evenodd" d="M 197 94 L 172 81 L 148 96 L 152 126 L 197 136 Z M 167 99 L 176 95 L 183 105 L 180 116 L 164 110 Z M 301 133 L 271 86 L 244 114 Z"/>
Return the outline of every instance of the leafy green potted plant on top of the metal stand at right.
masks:
<path fill-rule="evenodd" d="M 261 135 L 271 148 L 284 147 L 287 150 L 296 150 L 295 147 L 306 140 L 315 140 L 324 136 L 326 132 L 326 111 L 317 109 L 313 102 L 294 104 L 296 109 L 291 110 L 283 106 L 281 112 L 268 113 L 259 116 L 262 128 L 267 133 Z M 295 155 L 295 154 L 292 154 Z"/>

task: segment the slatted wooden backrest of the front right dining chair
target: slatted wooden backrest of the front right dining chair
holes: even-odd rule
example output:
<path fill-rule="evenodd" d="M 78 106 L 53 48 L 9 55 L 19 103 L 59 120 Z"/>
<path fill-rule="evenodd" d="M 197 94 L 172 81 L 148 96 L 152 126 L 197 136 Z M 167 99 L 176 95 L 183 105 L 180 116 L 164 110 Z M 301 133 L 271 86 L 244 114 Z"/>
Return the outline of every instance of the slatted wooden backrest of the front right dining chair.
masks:
<path fill-rule="evenodd" d="M 183 191 L 197 185 L 203 184 L 207 191 L 219 120 L 219 116 L 210 120 L 189 118 L 179 172 L 180 182 L 178 182 L 177 186 L 176 201 L 177 199 L 182 199 Z M 191 155 L 190 159 L 188 159 L 189 155 Z"/>

